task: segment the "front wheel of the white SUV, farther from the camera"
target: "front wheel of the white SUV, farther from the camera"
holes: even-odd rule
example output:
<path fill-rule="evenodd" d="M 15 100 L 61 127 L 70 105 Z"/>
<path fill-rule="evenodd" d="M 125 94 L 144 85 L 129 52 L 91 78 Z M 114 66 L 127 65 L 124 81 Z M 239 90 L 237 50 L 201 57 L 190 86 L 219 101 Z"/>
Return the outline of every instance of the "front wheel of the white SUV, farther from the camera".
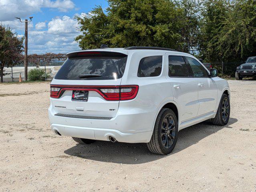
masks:
<path fill-rule="evenodd" d="M 228 105 L 226 106 L 226 104 Z M 218 106 L 216 116 L 211 120 L 214 125 L 223 126 L 228 123 L 229 117 L 230 117 L 230 101 L 227 94 L 222 94 L 222 98 L 220 100 L 220 104 Z"/>

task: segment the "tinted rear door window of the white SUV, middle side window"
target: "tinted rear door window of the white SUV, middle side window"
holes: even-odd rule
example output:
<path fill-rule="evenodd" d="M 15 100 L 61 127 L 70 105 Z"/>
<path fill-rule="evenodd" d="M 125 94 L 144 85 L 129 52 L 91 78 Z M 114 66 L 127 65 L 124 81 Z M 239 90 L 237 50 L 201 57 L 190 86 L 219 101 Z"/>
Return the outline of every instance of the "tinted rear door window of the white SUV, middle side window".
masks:
<path fill-rule="evenodd" d="M 169 56 L 169 76 L 189 77 L 188 68 L 182 56 Z"/>

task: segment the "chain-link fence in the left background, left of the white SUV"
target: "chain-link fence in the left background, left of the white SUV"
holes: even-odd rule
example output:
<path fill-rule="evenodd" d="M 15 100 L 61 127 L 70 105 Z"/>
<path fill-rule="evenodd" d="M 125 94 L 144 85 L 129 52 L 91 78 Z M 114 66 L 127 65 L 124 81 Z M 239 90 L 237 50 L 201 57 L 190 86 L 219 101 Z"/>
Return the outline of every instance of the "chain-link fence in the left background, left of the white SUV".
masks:
<path fill-rule="evenodd" d="M 46 80 L 52 80 L 55 74 L 58 72 L 63 62 L 53 62 L 50 64 L 40 63 L 38 65 L 29 65 L 28 72 L 34 68 L 42 68 L 44 69 L 45 74 L 49 74 L 49 77 Z M 5 67 L 4 68 L 4 76 L 3 82 L 17 82 L 21 76 L 22 81 L 25 80 L 24 76 L 24 65 Z M 28 79 L 29 80 L 29 79 Z"/>

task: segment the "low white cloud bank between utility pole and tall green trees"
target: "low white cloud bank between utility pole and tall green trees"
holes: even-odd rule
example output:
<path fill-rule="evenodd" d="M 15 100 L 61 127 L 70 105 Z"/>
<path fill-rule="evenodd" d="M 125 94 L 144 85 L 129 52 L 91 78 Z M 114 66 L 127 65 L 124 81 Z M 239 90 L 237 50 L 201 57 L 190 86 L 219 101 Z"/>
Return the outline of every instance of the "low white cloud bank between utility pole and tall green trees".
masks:
<path fill-rule="evenodd" d="M 39 28 L 43 25 L 48 28 Z M 28 31 L 28 53 L 66 53 L 81 50 L 74 40 L 77 35 L 81 34 L 77 31 L 79 27 L 77 20 L 63 16 L 52 18 L 47 25 L 45 22 L 39 22 L 35 26 L 38 27 L 36 30 Z"/>

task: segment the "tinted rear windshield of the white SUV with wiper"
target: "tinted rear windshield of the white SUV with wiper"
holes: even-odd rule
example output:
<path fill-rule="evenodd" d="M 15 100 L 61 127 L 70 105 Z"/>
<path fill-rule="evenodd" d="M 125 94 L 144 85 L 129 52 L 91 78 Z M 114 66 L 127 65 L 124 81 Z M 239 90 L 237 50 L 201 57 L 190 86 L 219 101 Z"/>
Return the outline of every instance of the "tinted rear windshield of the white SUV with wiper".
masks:
<path fill-rule="evenodd" d="M 61 80 L 115 80 L 123 76 L 126 61 L 127 55 L 124 54 L 112 56 L 99 54 L 68 58 L 54 78 Z M 99 76 L 87 77 L 87 75 Z"/>

